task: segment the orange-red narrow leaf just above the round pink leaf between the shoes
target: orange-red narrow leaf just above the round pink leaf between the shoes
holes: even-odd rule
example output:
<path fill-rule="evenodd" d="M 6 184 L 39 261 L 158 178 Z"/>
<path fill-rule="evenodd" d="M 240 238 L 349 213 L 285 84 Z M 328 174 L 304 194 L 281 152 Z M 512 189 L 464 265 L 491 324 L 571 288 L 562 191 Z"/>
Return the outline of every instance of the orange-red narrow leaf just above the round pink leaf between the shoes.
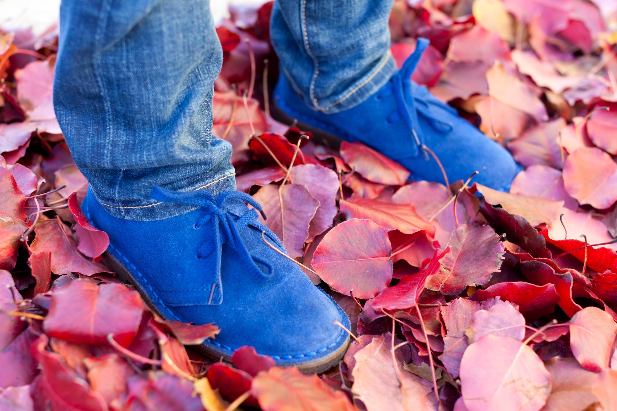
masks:
<path fill-rule="evenodd" d="M 348 201 L 341 200 L 339 205 L 347 219 L 367 218 L 381 225 L 386 231 L 399 230 L 405 234 L 413 234 L 425 230 L 429 236 L 435 233 L 435 227 L 424 221 L 411 204 L 393 204 L 353 196 Z"/>

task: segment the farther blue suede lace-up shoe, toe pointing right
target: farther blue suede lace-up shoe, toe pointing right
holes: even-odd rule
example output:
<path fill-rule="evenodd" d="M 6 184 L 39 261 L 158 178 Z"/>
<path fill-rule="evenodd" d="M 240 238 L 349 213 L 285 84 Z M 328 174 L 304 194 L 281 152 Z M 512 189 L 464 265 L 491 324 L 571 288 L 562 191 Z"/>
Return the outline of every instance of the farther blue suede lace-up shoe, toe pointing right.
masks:
<path fill-rule="evenodd" d="M 507 191 L 522 170 L 510 153 L 410 80 L 427 46 L 428 40 L 418 39 L 413 54 L 386 85 L 358 106 L 333 114 L 308 107 L 281 70 L 275 114 L 281 121 L 295 118 L 301 127 L 326 138 L 360 141 L 406 167 L 413 180 L 445 182 L 430 150 L 450 183 L 478 170 L 474 181 Z"/>

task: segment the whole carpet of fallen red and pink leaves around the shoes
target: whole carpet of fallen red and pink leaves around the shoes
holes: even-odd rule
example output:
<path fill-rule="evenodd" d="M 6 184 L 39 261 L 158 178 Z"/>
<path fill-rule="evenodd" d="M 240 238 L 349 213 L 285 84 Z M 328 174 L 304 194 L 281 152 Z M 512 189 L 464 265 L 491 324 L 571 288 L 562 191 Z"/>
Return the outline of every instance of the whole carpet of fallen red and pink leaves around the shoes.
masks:
<path fill-rule="evenodd" d="M 251 347 L 207 359 L 216 325 L 166 322 L 115 279 L 52 110 L 55 34 L 0 33 L 0 409 L 617 409 L 617 3 L 412 3 L 392 54 L 430 39 L 413 80 L 526 167 L 510 193 L 410 182 L 276 122 L 271 2 L 217 30 L 238 188 L 352 320 L 321 376 Z"/>

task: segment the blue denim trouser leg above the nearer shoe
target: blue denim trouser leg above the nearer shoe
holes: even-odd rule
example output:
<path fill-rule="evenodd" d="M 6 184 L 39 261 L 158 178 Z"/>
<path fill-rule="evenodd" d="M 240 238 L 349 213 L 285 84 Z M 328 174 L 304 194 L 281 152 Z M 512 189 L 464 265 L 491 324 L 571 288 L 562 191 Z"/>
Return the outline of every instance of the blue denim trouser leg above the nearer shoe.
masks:
<path fill-rule="evenodd" d="M 116 217 L 155 220 L 155 185 L 234 189 L 231 145 L 212 136 L 222 64 L 209 1 L 67 0 L 54 106 L 75 163 Z M 216 182 L 215 182 L 216 181 Z"/>

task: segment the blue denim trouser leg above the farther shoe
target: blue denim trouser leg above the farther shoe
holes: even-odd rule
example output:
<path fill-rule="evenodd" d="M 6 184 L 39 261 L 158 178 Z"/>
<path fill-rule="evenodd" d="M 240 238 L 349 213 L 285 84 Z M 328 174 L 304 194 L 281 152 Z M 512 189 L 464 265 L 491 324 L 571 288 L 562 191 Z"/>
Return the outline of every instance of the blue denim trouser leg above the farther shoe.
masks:
<path fill-rule="evenodd" d="M 392 0 L 278 0 L 270 36 L 281 67 L 313 109 L 334 113 L 374 94 L 396 72 Z"/>

